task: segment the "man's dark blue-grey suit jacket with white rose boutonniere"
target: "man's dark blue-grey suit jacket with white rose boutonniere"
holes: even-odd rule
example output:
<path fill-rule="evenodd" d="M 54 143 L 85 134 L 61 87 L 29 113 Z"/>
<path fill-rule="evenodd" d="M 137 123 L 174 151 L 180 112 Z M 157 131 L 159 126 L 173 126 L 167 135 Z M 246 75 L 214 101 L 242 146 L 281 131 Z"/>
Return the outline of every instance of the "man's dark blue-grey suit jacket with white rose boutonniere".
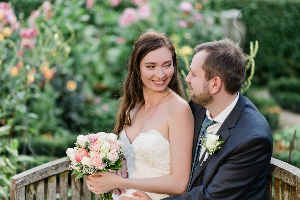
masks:
<path fill-rule="evenodd" d="M 193 159 L 206 109 L 190 102 L 195 118 Z M 266 199 L 266 176 L 273 138 L 268 122 L 254 104 L 239 93 L 238 102 L 221 125 L 223 147 L 197 166 L 190 192 L 165 200 Z M 199 161 L 202 162 L 204 154 Z M 192 160 L 193 160 L 192 159 Z M 180 170 L 180 169 L 178 169 Z"/>

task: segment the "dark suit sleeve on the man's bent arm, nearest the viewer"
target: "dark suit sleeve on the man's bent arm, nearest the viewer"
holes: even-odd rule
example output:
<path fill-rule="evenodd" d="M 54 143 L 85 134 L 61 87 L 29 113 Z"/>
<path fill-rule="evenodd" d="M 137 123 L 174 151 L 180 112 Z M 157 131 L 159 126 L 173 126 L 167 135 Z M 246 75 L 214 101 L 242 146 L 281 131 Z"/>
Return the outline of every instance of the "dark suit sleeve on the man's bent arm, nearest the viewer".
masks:
<path fill-rule="evenodd" d="M 267 137 L 253 136 L 224 159 L 210 184 L 194 187 L 189 193 L 164 200 L 229 200 L 245 199 L 245 194 L 256 195 L 265 183 L 271 152 L 272 145 Z"/>

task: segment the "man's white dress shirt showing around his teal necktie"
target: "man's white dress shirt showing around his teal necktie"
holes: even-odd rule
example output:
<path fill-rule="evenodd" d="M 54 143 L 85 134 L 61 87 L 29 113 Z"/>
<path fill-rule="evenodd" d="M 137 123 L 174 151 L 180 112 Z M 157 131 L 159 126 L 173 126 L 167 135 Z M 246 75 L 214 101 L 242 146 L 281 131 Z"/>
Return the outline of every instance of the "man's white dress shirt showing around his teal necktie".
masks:
<path fill-rule="evenodd" d="M 239 93 L 235 97 L 235 99 L 232 101 L 232 103 L 225 110 L 223 110 L 219 115 L 217 115 L 214 119 L 211 118 L 210 112 L 208 111 L 208 109 L 206 109 L 207 118 L 209 120 L 211 120 L 211 121 L 214 120 L 217 123 L 215 123 L 215 124 L 207 127 L 207 129 L 205 131 L 205 136 L 204 137 L 206 137 L 207 130 L 213 131 L 214 135 L 218 132 L 218 130 L 220 129 L 221 125 L 223 124 L 223 122 L 225 121 L 225 119 L 227 118 L 227 116 L 229 115 L 229 113 L 232 111 L 232 109 L 234 108 L 235 104 L 238 102 L 238 97 L 239 97 Z M 201 159 L 201 157 L 205 153 L 205 151 L 206 151 L 206 148 L 201 148 L 199 160 Z"/>

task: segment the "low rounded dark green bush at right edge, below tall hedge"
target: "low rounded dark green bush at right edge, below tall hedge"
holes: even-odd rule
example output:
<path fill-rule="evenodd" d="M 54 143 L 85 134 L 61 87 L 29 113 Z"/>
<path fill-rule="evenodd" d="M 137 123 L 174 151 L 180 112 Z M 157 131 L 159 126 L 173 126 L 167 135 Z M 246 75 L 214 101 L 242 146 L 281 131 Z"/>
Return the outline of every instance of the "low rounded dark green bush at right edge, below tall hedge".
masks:
<path fill-rule="evenodd" d="M 300 113 L 300 78 L 282 77 L 271 80 L 268 88 L 282 108 Z"/>

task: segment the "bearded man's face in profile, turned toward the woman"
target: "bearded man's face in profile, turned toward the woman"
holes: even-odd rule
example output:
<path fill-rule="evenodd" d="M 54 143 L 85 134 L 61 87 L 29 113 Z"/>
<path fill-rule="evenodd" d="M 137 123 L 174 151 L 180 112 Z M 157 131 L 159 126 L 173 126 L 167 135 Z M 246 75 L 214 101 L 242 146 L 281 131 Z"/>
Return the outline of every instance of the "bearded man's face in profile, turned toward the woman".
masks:
<path fill-rule="evenodd" d="M 190 64 L 190 72 L 185 79 L 189 83 L 190 99 L 201 106 L 207 106 L 213 101 L 209 90 L 209 81 L 206 80 L 205 72 L 202 69 L 207 55 L 208 52 L 203 50 L 194 55 Z"/>

